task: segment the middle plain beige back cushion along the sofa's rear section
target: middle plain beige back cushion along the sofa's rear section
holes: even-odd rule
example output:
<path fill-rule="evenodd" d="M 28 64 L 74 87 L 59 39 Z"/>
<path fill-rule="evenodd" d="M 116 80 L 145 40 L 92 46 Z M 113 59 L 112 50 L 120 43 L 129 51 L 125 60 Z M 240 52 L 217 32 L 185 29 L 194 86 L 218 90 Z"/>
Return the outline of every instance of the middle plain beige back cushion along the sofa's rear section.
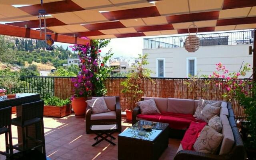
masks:
<path fill-rule="evenodd" d="M 167 112 L 194 114 L 194 100 L 168 98 Z"/>

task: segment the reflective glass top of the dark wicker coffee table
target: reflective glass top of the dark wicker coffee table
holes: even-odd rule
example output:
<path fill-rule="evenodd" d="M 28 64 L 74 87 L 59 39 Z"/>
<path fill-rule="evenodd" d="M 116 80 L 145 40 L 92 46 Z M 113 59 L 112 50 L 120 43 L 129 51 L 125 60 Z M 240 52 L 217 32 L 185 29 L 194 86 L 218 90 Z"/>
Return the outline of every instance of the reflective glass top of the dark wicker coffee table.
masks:
<path fill-rule="evenodd" d="M 154 124 L 156 123 L 156 124 Z M 140 136 L 139 132 L 143 130 L 143 125 L 152 125 L 152 130 L 148 131 L 146 133 L 146 136 Z M 122 133 L 120 133 L 118 136 L 124 136 L 129 138 L 136 138 L 141 140 L 148 140 L 153 141 L 165 128 L 167 128 L 169 124 L 167 123 L 160 123 L 160 122 L 151 122 L 151 121 L 145 121 L 140 120 L 130 128 L 127 128 Z"/>

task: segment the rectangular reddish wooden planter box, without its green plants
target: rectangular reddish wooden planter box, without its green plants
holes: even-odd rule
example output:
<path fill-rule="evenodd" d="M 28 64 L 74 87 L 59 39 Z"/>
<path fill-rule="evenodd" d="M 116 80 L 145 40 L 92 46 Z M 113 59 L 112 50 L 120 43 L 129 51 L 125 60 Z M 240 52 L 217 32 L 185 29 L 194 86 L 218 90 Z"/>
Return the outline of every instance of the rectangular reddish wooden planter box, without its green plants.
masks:
<path fill-rule="evenodd" d="M 65 105 L 61 107 L 56 106 L 44 106 L 44 116 L 50 117 L 64 117 L 71 114 L 71 105 Z"/>

